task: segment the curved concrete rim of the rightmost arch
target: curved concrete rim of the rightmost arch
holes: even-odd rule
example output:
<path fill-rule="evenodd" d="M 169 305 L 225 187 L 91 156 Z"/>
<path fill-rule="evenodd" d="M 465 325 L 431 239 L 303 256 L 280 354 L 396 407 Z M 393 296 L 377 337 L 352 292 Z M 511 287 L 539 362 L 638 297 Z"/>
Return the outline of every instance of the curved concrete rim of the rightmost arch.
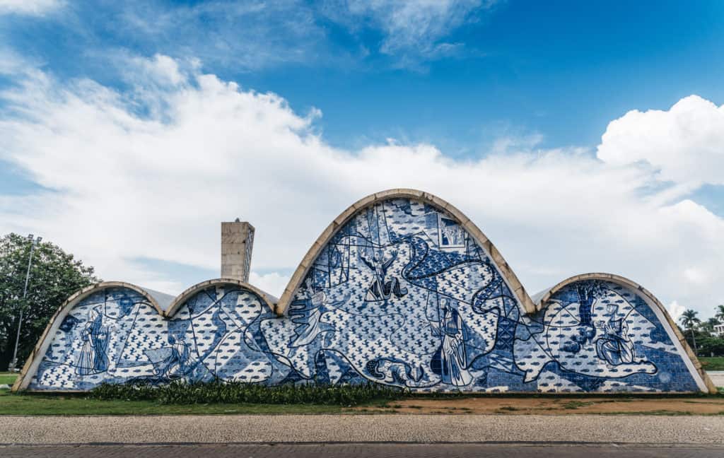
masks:
<path fill-rule="evenodd" d="M 553 294 L 560 291 L 563 287 L 568 286 L 569 284 L 575 283 L 576 281 L 582 281 L 582 280 L 605 280 L 605 281 L 613 281 L 613 283 L 620 284 L 624 287 L 630 287 L 639 294 L 641 294 L 641 297 L 644 297 L 644 300 L 647 300 L 649 303 L 649 306 L 654 305 L 660 314 L 666 318 L 666 321 L 671 328 L 671 331 L 673 331 L 673 334 L 676 336 L 676 339 L 678 340 L 678 343 L 681 345 L 683 350 L 686 352 L 686 355 L 689 356 L 689 360 L 691 360 L 691 364 L 694 366 L 694 370 L 696 370 L 696 373 L 699 373 L 699 376 L 701 376 L 702 381 L 704 381 L 704 384 L 707 387 L 707 390 L 711 394 L 717 393 L 717 388 L 714 386 L 714 383 L 712 382 L 711 378 L 709 378 L 709 375 L 707 374 L 707 371 L 702 368 L 702 363 L 699 362 L 699 358 L 696 357 L 694 352 L 691 350 L 691 347 L 689 347 L 689 344 L 686 342 L 686 339 L 684 339 L 684 336 L 681 334 L 681 332 L 678 329 L 678 326 L 676 326 L 675 321 L 671 318 L 671 315 L 669 315 L 668 310 L 666 310 L 665 306 L 661 303 L 660 300 L 657 299 L 652 292 L 650 292 L 648 289 L 642 287 L 640 284 L 636 283 L 636 281 L 633 281 L 631 279 L 627 279 L 624 276 L 616 275 L 615 273 L 604 273 L 604 272 L 591 272 L 591 273 L 581 273 L 578 275 L 574 275 L 571 277 L 568 277 L 568 279 L 565 279 L 563 281 L 560 281 L 558 284 L 556 284 L 554 287 L 548 289 L 547 291 L 542 293 L 542 296 L 539 297 L 539 300 L 536 302 L 536 310 L 543 310 L 547 307 L 547 302 L 550 300 Z M 654 310 L 655 311 L 655 310 Z"/>

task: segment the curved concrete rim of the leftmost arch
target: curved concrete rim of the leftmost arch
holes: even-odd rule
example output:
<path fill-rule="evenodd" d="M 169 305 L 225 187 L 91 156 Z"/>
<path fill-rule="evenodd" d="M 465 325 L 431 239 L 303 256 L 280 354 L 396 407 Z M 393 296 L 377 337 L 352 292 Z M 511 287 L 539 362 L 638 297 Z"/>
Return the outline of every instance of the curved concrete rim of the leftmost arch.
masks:
<path fill-rule="evenodd" d="M 72 294 L 72 296 L 68 297 L 68 299 L 63 302 L 63 304 L 53 314 L 50 319 L 50 323 L 48 323 L 48 326 L 46 326 L 45 331 L 43 331 L 43 334 L 41 335 L 41 338 L 38 339 L 38 343 L 35 344 L 33 352 L 30 352 L 28 360 L 26 360 L 25 365 L 22 366 L 20 376 L 17 377 L 17 380 L 12 385 L 12 391 L 28 388 L 30 380 L 33 378 L 33 376 L 35 376 L 35 373 L 38 372 L 38 365 L 40 365 L 41 360 L 45 356 L 46 352 L 48 351 L 48 347 L 53 340 L 49 339 L 48 336 L 52 336 L 55 334 L 55 331 L 58 330 L 60 324 L 63 322 L 68 313 L 70 313 L 70 310 L 72 310 L 78 302 L 90 296 L 90 294 L 106 288 L 113 287 L 128 288 L 134 290 L 135 292 L 138 292 L 139 294 L 143 295 L 143 297 L 146 297 L 148 303 L 153 305 L 153 308 L 156 309 L 156 312 L 158 312 L 159 315 L 164 315 L 164 310 L 161 309 L 159 303 L 156 302 L 156 299 L 154 299 L 153 296 L 146 291 L 146 289 L 143 289 L 138 285 L 132 283 L 126 283 L 125 281 L 101 281 L 100 283 L 91 284 L 88 287 L 80 289 L 79 291 Z"/>

